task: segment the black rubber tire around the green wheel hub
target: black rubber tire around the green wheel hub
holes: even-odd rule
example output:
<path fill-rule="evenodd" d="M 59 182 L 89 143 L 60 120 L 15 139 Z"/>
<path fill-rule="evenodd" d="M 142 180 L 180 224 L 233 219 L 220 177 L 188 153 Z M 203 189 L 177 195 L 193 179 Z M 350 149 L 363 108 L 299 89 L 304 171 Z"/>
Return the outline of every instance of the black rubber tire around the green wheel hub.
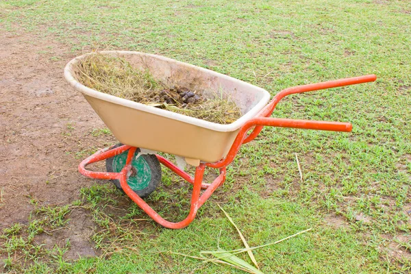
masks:
<path fill-rule="evenodd" d="M 121 147 L 123 144 L 117 144 L 114 145 L 112 147 L 112 149 L 115 149 L 116 147 Z M 138 152 L 140 152 L 140 149 L 136 149 L 136 152 L 134 153 L 134 155 L 136 155 Z M 140 197 L 140 198 L 144 198 L 147 197 L 151 194 L 151 192 L 153 192 L 155 190 L 155 188 L 157 188 L 158 184 L 161 182 L 161 166 L 160 166 L 160 162 L 158 161 L 157 157 L 155 157 L 155 155 L 152 154 L 144 154 L 144 155 L 140 155 L 140 157 L 142 157 L 145 162 L 147 162 L 149 169 L 151 170 L 151 180 L 149 182 L 149 185 L 146 188 L 143 188 L 141 190 L 133 190 L 134 192 L 136 192 L 136 194 Z M 113 160 L 114 158 L 108 158 L 105 160 L 105 169 L 108 172 L 114 172 L 113 170 Z M 121 184 L 120 184 L 120 180 L 118 179 L 112 179 L 110 180 L 117 188 L 119 188 L 119 190 L 121 190 L 121 192 L 124 193 L 123 188 L 121 188 Z"/>

